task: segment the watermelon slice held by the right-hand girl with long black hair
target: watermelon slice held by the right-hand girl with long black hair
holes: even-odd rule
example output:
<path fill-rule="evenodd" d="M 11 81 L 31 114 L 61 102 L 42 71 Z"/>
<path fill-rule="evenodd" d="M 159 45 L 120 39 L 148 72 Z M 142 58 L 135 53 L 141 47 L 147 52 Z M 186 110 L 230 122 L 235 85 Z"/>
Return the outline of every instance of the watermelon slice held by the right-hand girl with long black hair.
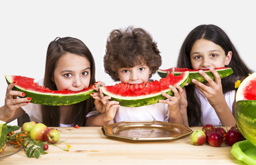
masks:
<path fill-rule="evenodd" d="M 159 69 L 157 70 L 157 74 L 159 74 L 159 76 L 161 78 L 166 77 L 167 72 L 170 72 L 172 68 L 169 69 Z M 201 69 L 204 72 L 206 72 L 206 74 L 208 74 L 208 76 L 210 76 L 210 78 L 212 78 L 213 80 L 215 80 L 215 76 L 213 76 L 212 72 L 210 72 L 210 69 Z M 226 76 L 229 76 L 230 74 L 233 74 L 233 69 L 230 67 L 218 67 L 215 68 L 215 70 L 217 70 L 217 72 L 219 73 L 219 76 L 221 78 L 224 78 Z M 201 76 L 201 74 L 199 74 L 199 69 L 197 70 L 193 70 L 193 69 L 187 69 L 187 68 L 179 68 L 179 67 L 175 67 L 175 76 L 181 74 L 182 72 L 189 72 L 189 78 L 188 78 L 188 83 L 189 84 L 194 84 L 192 83 L 192 79 L 194 78 L 195 80 L 198 80 L 201 83 L 206 83 L 206 79 Z"/>

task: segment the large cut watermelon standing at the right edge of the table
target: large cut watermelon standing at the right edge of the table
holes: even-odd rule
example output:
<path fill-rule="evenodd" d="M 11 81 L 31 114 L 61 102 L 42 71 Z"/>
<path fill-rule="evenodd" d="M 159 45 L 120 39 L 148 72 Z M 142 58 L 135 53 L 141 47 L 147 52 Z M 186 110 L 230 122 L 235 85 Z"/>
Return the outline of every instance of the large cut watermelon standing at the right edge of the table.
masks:
<path fill-rule="evenodd" d="M 256 146 L 256 72 L 239 85 L 235 105 L 235 120 L 239 131 Z"/>

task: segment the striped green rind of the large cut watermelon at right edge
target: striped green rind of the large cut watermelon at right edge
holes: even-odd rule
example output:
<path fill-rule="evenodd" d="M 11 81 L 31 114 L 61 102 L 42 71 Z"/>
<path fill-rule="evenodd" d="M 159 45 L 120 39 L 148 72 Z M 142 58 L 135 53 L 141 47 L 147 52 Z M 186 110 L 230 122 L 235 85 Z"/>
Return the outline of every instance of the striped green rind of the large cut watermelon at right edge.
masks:
<path fill-rule="evenodd" d="M 256 100 L 239 100 L 235 103 L 235 120 L 246 140 L 256 146 Z"/>

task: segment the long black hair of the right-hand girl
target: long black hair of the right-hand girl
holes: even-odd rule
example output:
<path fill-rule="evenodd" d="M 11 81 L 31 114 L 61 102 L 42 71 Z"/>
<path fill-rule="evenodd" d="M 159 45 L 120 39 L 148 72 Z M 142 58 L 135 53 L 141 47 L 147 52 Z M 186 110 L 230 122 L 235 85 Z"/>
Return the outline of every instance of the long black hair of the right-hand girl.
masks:
<path fill-rule="evenodd" d="M 228 55 L 229 51 L 232 52 L 231 61 L 225 67 L 231 67 L 234 73 L 221 79 L 224 94 L 228 91 L 235 90 L 234 84 L 238 79 L 243 80 L 246 76 L 248 76 L 248 74 L 252 73 L 244 61 L 242 61 L 242 58 L 240 58 L 228 35 L 217 25 L 199 25 L 193 29 L 188 36 L 186 36 L 184 43 L 181 45 L 177 67 L 193 69 L 190 60 L 190 51 L 193 44 L 198 39 L 212 41 L 216 45 L 219 45 L 224 50 L 226 55 Z M 190 126 L 199 126 L 201 124 L 201 102 L 195 94 L 195 85 L 186 86 L 186 94 L 188 99 L 188 123 Z"/>

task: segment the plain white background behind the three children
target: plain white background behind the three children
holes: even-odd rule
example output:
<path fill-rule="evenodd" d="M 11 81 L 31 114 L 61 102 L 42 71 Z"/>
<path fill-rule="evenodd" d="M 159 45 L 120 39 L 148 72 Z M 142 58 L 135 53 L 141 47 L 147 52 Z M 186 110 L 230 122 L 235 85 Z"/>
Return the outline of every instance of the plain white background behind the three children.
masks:
<path fill-rule="evenodd" d="M 161 52 L 161 69 L 176 66 L 190 30 L 215 24 L 230 36 L 248 67 L 256 70 L 255 16 L 253 0 L 0 1 L 0 105 L 6 95 L 4 75 L 43 78 L 47 47 L 57 36 L 86 43 L 95 57 L 96 79 L 115 84 L 104 72 L 106 38 L 111 30 L 128 25 L 152 34 Z"/>

